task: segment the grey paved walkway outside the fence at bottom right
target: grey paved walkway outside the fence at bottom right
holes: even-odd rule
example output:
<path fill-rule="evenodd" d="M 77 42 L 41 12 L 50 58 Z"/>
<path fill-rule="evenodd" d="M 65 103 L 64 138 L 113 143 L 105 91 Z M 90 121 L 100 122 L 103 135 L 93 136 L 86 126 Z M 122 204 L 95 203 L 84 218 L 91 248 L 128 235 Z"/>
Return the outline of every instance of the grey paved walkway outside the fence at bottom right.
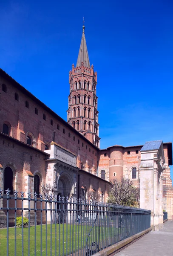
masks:
<path fill-rule="evenodd" d="M 151 231 L 115 255 L 173 256 L 173 221 L 165 222 L 164 229 Z"/>

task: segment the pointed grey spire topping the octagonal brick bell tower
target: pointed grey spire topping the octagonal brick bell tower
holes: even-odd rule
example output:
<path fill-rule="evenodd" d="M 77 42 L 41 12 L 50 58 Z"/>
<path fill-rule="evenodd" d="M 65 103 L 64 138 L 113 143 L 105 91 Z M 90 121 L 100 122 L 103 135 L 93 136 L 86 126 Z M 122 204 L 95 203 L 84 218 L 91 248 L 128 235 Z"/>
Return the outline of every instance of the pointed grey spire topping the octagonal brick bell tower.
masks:
<path fill-rule="evenodd" d="M 79 54 L 77 58 L 77 64 L 76 67 L 81 67 L 82 62 L 84 67 L 90 68 L 90 61 L 89 61 L 89 56 L 88 56 L 88 50 L 86 46 L 86 40 L 85 40 L 85 26 L 84 26 L 84 20 L 83 20 L 83 26 L 82 26 L 82 39 L 80 43 L 80 48 L 79 48 Z"/>

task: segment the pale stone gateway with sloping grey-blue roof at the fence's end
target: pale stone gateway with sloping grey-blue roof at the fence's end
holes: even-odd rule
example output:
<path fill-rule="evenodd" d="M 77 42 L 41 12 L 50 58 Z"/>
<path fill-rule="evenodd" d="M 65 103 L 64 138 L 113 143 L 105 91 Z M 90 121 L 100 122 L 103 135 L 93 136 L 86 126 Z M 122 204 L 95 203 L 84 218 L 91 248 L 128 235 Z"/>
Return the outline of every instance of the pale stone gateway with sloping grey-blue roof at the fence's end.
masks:
<path fill-rule="evenodd" d="M 145 143 L 141 149 L 140 207 L 151 210 L 153 230 L 163 227 L 163 165 L 162 141 Z"/>

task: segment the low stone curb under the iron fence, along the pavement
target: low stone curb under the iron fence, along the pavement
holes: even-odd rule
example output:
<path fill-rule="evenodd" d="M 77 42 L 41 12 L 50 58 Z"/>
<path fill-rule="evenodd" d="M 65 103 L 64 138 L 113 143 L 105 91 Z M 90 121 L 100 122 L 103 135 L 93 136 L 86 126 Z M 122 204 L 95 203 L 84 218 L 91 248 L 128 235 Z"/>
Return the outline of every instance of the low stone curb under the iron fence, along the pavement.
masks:
<path fill-rule="evenodd" d="M 94 256 L 109 256 L 113 253 L 118 253 L 120 250 L 122 250 L 124 247 L 129 246 L 130 244 L 132 244 L 133 242 L 135 242 L 136 240 L 138 240 L 139 238 L 141 238 L 142 236 L 146 235 L 147 233 L 149 233 L 152 230 L 152 227 L 149 227 L 148 229 L 137 233 L 136 235 L 130 236 L 129 238 L 117 243 L 117 244 L 113 244 L 112 246 L 99 251 L 98 253 L 95 253 Z"/>

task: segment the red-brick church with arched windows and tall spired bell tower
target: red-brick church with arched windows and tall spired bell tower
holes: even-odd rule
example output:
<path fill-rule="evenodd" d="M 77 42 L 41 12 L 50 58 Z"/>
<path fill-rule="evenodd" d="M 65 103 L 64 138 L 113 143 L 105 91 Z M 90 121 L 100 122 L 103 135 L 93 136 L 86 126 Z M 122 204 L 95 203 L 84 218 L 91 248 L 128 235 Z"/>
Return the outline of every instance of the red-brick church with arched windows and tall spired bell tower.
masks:
<path fill-rule="evenodd" d="M 90 65 L 85 26 L 77 64 L 69 72 L 67 122 L 0 69 L 0 189 L 37 192 L 51 184 L 57 196 L 87 199 L 88 192 L 108 198 L 110 180 L 122 176 L 140 187 L 141 148 L 111 145 L 100 149 L 97 73 Z M 170 178 L 172 143 L 163 143 L 163 206 L 173 215 Z M 26 207 L 28 201 L 26 201 Z M 5 201 L 0 199 L 0 207 Z M 14 213 L 9 216 L 14 223 Z M 0 211 L 0 227 L 6 212 Z M 39 218 L 37 218 L 39 224 Z"/>

